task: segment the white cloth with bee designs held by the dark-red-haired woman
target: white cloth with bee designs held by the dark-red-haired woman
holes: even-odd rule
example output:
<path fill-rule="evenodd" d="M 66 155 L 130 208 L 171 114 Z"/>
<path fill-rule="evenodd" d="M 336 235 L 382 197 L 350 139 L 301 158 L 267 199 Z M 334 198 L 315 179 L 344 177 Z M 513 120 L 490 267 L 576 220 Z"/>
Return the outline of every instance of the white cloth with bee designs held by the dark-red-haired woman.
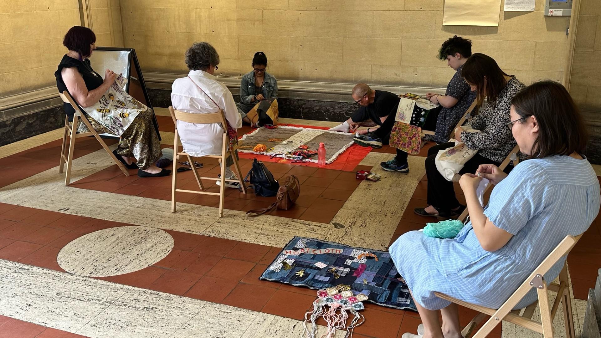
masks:
<path fill-rule="evenodd" d="M 123 89 L 127 79 L 119 75 L 100 100 L 94 105 L 81 107 L 90 117 L 106 127 L 112 134 L 121 136 L 139 112 L 148 109 Z"/>

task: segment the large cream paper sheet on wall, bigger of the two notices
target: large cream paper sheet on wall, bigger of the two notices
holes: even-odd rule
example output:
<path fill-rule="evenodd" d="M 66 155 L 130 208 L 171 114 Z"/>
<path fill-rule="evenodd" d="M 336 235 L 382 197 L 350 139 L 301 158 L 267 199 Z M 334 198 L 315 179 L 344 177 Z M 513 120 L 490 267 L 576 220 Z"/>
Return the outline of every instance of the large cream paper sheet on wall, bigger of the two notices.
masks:
<path fill-rule="evenodd" d="M 445 0 L 443 26 L 499 26 L 501 0 Z"/>

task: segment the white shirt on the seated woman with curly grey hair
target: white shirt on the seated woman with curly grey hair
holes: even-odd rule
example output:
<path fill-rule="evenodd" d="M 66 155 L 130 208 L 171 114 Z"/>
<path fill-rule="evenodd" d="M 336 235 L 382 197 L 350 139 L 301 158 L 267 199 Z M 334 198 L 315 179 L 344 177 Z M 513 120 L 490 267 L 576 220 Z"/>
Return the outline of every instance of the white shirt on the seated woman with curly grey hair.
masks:
<path fill-rule="evenodd" d="M 231 128 L 242 127 L 242 117 L 236 108 L 236 102 L 224 84 L 203 70 L 191 70 L 188 76 L 189 78 L 176 79 L 171 86 L 171 104 L 174 109 L 203 114 L 218 112 L 221 108 Z M 196 85 L 192 83 L 191 78 Z M 197 85 L 219 107 L 198 89 Z M 177 121 L 177 131 L 184 151 L 191 156 L 221 155 L 224 132 L 221 123 L 198 124 Z"/>

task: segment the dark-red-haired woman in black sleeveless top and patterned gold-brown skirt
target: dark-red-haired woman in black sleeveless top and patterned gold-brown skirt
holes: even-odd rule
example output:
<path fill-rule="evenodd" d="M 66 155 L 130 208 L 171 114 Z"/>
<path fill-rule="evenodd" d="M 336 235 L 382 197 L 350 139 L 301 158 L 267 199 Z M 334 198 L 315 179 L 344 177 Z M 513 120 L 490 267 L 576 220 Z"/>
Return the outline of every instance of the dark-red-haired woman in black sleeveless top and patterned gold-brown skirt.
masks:
<path fill-rule="evenodd" d="M 99 73 L 94 72 L 88 58 L 96 49 L 95 43 L 96 35 L 90 28 L 73 26 L 63 40 L 63 45 L 69 49 L 69 52 L 63 57 L 58 70 L 54 73 L 58 90 L 61 93 L 68 91 L 82 108 L 96 105 L 118 76 L 107 69 L 103 80 Z M 73 114 L 75 114 L 73 107 L 69 103 L 64 103 L 64 108 L 69 121 L 73 121 Z M 82 109 L 82 112 L 84 110 Z M 118 114 L 118 112 L 111 113 Z M 84 114 L 99 134 L 114 134 L 87 112 Z M 138 168 L 139 177 L 167 176 L 171 173 L 171 170 L 154 165 L 161 153 L 159 137 L 154 129 L 152 118 L 151 109 L 139 111 L 123 134 L 117 135 L 121 139 L 117 150 L 113 152 L 128 169 Z M 78 132 L 88 131 L 84 123 L 79 123 L 76 128 Z"/>

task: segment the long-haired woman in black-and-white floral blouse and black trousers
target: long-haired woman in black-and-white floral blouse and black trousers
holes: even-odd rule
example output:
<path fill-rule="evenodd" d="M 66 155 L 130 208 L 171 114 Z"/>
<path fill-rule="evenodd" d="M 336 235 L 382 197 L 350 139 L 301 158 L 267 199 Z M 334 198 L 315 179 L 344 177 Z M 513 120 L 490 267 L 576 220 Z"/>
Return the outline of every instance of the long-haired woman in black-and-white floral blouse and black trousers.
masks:
<path fill-rule="evenodd" d="M 463 78 L 468 82 L 472 91 L 478 94 L 478 104 L 488 100 L 483 112 L 472 118 L 466 125 L 482 133 L 463 132 L 457 128 L 454 138 L 478 150 L 467 161 L 459 174 L 475 173 L 480 164 L 500 165 L 507 158 L 516 140 L 507 129 L 510 121 L 509 111 L 511 99 L 525 86 L 515 76 L 505 74 L 488 55 L 475 53 L 463 64 Z M 421 216 L 439 217 L 445 219 L 460 215 L 462 206 L 455 197 L 453 182 L 445 179 L 436 169 L 435 158 L 439 150 L 453 147 L 454 143 L 443 143 L 428 150 L 426 159 L 426 175 L 428 176 L 428 204 L 426 208 L 415 208 L 415 214 Z"/>

